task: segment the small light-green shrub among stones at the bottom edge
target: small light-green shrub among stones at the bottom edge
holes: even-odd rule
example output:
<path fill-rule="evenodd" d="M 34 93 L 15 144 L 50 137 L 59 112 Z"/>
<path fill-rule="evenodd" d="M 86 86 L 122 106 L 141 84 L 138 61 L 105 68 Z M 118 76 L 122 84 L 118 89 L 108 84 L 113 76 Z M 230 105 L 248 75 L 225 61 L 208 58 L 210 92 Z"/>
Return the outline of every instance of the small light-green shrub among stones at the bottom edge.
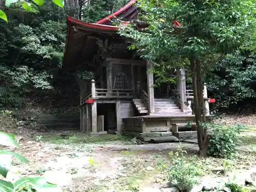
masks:
<path fill-rule="evenodd" d="M 191 161 L 188 161 L 185 154 L 186 152 L 178 146 L 176 153 L 169 153 L 172 165 L 167 167 L 168 181 L 179 187 L 181 191 L 189 190 L 193 185 L 198 184 L 197 166 L 190 163 Z"/>

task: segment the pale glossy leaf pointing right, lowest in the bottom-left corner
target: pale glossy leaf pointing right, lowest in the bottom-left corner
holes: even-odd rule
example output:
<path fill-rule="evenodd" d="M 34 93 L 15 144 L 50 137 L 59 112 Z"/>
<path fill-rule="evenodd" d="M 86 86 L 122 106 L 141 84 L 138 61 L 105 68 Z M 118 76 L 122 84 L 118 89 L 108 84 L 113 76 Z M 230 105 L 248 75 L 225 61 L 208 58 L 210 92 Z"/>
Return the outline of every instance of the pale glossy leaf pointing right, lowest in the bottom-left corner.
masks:
<path fill-rule="evenodd" d="M 28 185 L 32 185 L 34 189 L 39 188 L 53 188 L 57 185 L 48 183 L 44 177 L 24 177 L 17 180 L 14 184 L 16 190 L 22 189 Z"/>

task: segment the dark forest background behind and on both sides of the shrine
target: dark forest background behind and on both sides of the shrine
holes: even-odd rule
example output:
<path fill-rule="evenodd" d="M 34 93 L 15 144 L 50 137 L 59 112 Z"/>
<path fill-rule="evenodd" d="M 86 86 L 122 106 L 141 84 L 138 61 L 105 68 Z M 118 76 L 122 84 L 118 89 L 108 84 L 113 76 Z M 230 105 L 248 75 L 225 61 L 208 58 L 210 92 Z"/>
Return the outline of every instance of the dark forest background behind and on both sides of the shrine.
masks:
<path fill-rule="evenodd" d="M 74 1 L 75 2 L 75 1 Z M 88 0 L 76 9 L 72 0 L 63 9 L 52 1 L 36 12 L 9 8 L 1 2 L 8 23 L 0 20 L 0 107 L 24 109 L 33 105 L 63 113 L 77 108 L 80 72 L 62 70 L 67 32 L 67 15 L 93 23 L 124 6 L 127 0 Z M 254 39 L 255 34 L 254 35 Z M 215 63 L 205 82 L 208 95 L 216 98 L 212 113 L 254 113 L 256 109 L 255 43 Z M 83 78 L 90 78 L 90 73 Z M 88 74 L 88 75 L 87 75 Z M 191 78 L 187 78 L 188 89 Z M 75 99 L 77 98 L 77 99 Z M 67 102 L 68 100 L 68 102 Z"/>

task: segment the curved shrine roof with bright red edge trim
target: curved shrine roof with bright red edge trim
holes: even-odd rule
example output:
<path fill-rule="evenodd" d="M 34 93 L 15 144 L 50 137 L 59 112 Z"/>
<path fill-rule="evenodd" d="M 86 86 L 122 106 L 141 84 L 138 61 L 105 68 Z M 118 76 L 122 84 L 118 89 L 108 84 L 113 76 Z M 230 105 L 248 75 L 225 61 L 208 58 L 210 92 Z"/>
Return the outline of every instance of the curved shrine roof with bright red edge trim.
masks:
<path fill-rule="evenodd" d="M 68 70 L 75 70 L 77 67 L 83 66 L 86 61 L 91 60 L 93 55 L 97 53 L 98 46 L 95 41 L 88 40 L 88 34 L 119 36 L 118 33 L 116 33 L 119 27 L 114 26 L 111 19 L 119 17 L 124 21 L 124 25 L 127 25 L 131 20 L 136 20 L 138 18 L 138 10 L 134 5 L 135 3 L 136 0 L 131 0 L 115 13 L 93 24 L 81 22 L 80 20 L 68 16 L 68 31 L 63 57 L 63 67 Z M 178 21 L 173 21 L 173 24 L 180 26 Z M 144 28 L 145 26 L 141 27 Z M 81 31 L 86 31 L 86 33 Z M 105 36 L 103 38 L 105 38 Z"/>

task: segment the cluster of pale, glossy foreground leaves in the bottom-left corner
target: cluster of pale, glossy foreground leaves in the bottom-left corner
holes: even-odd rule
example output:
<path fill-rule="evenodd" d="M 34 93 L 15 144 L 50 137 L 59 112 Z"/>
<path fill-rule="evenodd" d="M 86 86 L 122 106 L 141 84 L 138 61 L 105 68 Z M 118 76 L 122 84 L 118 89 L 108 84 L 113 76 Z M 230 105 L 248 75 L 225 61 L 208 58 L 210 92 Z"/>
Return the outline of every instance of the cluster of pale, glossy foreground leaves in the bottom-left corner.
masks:
<path fill-rule="evenodd" d="M 0 145 L 19 147 L 19 144 L 11 134 L 0 132 Z M 0 175 L 6 178 L 11 167 L 12 158 L 10 156 L 28 163 L 28 159 L 22 155 L 6 150 L 0 150 Z M 0 179 L 0 192 L 37 191 L 44 189 L 54 191 L 57 185 L 48 183 L 44 177 L 24 177 L 14 183 Z M 52 190 L 53 189 L 53 190 Z"/>

